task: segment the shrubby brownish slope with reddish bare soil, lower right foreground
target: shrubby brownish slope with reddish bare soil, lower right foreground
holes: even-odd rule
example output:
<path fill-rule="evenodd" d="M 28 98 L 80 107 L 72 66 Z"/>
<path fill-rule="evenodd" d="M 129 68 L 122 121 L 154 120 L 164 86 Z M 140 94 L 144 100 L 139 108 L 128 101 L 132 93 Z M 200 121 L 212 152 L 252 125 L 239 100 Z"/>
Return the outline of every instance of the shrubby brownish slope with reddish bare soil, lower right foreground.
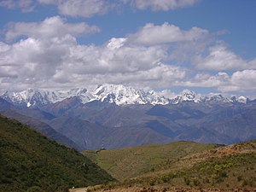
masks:
<path fill-rule="evenodd" d="M 218 189 L 256 187 L 256 141 L 207 150 L 162 164 L 127 183 Z"/>

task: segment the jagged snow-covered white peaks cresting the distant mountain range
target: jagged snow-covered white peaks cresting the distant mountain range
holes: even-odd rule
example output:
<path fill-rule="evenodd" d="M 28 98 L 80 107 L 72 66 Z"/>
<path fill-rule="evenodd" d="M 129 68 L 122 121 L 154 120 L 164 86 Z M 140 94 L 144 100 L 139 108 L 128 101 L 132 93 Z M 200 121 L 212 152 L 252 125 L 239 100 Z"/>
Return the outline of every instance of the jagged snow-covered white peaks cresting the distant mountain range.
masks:
<path fill-rule="evenodd" d="M 31 107 L 61 102 L 62 100 L 73 96 L 79 97 L 82 103 L 96 100 L 100 102 L 112 102 L 119 106 L 147 103 L 153 105 L 166 105 L 169 103 L 178 104 L 180 102 L 247 102 L 245 96 L 237 98 L 234 96 L 228 98 L 220 94 L 208 94 L 202 96 L 191 90 L 183 90 L 180 94 L 177 94 L 177 96 L 168 97 L 160 95 L 154 90 L 136 89 L 121 84 L 102 84 L 97 86 L 94 90 L 79 88 L 73 90 L 29 89 L 20 92 L 6 91 L 0 97 L 15 103 L 15 105 Z"/>

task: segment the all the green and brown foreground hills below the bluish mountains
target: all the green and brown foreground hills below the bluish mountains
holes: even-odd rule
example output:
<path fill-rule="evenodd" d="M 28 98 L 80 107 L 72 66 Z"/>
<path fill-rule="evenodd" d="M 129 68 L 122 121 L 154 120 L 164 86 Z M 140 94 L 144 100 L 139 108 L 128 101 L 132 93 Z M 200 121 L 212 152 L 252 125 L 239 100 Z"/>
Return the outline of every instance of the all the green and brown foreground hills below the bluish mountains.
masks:
<path fill-rule="evenodd" d="M 228 192 L 256 188 L 255 140 L 230 145 L 180 141 L 101 148 L 83 151 L 84 157 L 16 120 L 3 116 L 0 120 L 0 185 L 4 191 Z"/>

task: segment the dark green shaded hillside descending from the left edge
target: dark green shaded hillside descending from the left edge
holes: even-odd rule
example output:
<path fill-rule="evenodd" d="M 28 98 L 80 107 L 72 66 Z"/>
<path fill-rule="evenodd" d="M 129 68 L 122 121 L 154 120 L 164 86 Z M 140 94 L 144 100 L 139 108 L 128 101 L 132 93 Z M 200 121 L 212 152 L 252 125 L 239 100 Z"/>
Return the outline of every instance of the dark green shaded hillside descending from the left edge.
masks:
<path fill-rule="evenodd" d="M 113 180 L 72 148 L 0 116 L 0 191 L 67 191 Z"/>

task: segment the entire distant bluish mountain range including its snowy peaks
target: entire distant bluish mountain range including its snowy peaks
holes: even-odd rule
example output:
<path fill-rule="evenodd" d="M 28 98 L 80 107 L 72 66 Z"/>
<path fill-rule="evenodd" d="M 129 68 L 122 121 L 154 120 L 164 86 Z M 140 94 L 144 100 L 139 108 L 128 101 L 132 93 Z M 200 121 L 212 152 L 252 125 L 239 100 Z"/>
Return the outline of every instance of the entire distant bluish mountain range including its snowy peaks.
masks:
<path fill-rule="evenodd" d="M 0 113 L 26 119 L 24 123 L 78 150 L 256 138 L 256 100 L 190 90 L 167 96 L 102 84 L 96 89 L 6 91 L 0 96 Z M 51 131 L 43 132 L 45 125 Z"/>

